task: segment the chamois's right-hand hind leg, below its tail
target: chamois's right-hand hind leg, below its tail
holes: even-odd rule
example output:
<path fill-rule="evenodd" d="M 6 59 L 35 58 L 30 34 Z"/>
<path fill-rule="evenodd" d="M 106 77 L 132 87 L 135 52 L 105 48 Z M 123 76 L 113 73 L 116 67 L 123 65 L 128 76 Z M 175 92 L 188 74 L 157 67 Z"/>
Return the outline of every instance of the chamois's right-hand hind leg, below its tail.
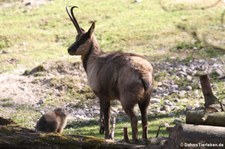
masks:
<path fill-rule="evenodd" d="M 142 139 L 147 140 L 148 138 L 148 116 L 147 109 L 150 99 L 146 99 L 138 103 L 139 109 L 141 111 L 141 120 L 142 120 Z"/>

